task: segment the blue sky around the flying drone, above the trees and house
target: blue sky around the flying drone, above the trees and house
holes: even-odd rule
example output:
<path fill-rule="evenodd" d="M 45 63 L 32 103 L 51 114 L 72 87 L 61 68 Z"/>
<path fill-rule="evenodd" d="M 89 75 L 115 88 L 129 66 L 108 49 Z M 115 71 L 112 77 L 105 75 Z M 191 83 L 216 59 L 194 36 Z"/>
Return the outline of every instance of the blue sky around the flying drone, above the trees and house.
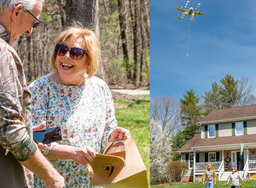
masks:
<path fill-rule="evenodd" d="M 227 74 L 256 83 L 256 2 L 191 0 L 190 17 L 177 11 L 185 0 L 150 1 L 150 96 L 172 94 L 179 100 L 193 87 L 204 95 Z M 187 54 L 188 49 L 188 55 Z M 255 92 L 254 92 L 255 93 Z"/>

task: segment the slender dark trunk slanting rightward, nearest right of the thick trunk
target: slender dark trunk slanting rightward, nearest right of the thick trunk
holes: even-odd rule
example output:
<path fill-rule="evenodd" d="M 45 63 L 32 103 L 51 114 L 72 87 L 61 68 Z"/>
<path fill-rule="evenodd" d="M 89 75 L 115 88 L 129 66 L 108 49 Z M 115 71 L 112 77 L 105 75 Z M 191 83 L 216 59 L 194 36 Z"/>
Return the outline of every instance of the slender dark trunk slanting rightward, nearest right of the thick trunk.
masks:
<path fill-rule="evenodd" d="M 125 34 L 126 9 L 124 6 L 124 2 L 122 0 L 118 0 L 118 13 L 119 13 L 119 23 L 120 23 L 120 30 L 121 30 L 122 48 L 123 48 L 123 52 L 124 52 L 124 61 L 126 64 L 126 75 L 127 75 L 127 79 L 131 80 L 132 75 L 131 75 L 131 70 L 130 70 L 130 66 L 129 66 L 129 55 L 128 55 L 128 50 L 127 50 L 127 39 L 126 39 L 126 34 Z"/>

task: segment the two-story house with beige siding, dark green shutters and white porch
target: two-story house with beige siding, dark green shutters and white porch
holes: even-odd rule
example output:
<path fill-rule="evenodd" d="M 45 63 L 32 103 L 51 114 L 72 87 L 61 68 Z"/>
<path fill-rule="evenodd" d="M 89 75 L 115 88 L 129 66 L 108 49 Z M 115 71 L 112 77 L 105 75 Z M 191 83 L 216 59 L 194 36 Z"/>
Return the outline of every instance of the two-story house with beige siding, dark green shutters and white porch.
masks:
<path fill-rule="evenodd" d="M 256 173 L 256 105 L 213 110 L 197 124 L 201 133 L 177 151 L 188 162 L 182 181 L 202 181 L 207 163 L 213 163 L 219 180 L 227 179 L 232 166 L 241 178 Z"/>

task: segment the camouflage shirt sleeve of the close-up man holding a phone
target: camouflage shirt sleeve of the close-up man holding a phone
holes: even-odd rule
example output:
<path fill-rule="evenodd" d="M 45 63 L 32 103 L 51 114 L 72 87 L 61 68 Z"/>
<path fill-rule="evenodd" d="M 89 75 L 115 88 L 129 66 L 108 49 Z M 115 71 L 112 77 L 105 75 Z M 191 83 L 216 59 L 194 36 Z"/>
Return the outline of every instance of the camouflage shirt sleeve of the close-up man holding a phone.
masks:
<path fill-rule="evenodd" d="M 21 63 L 15 63 L 15 54 L 9 47 L 0 42 L 0 144 L 17 160 L 25 161 L 34 156 L 37 146 L 30 137 L 31 115 L 30 119 L 27 115 L 22 116 L 31 112 L 30 103 L 22 105 L 26 101 L 24 97 L 29 98 L 24 92 L 24 83 L 20 82 L 22 79 L 19 79 L 24 77 L 23 67 Z"/>

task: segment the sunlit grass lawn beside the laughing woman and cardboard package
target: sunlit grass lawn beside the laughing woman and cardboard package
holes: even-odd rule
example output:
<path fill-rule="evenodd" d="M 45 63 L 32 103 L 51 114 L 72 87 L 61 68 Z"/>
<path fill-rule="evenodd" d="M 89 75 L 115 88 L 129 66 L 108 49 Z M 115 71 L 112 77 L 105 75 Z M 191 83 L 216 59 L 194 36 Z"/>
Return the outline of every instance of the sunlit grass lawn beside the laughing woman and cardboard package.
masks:
<path fill-rule="evenodd" d="M 119 127 L 128 129 L 147 169 L 150 166 L 150 95 L 138 95 L 140 100 L 114 99 L 115 117 Z"/>

